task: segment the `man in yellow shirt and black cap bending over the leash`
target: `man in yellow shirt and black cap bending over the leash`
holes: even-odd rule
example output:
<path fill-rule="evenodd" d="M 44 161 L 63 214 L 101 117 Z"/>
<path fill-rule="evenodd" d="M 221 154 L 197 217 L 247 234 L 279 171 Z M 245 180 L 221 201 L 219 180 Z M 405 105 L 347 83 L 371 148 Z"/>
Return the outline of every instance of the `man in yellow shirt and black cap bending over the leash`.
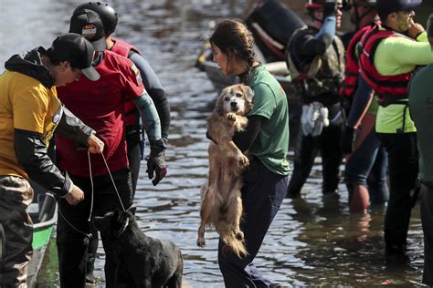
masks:
<path fill-rule="evenodd" d="M 28 180 L 37 181 L 67 205 L 84 199 L 83 191 L 48 157 L 49 139 L 58 133 L 90 153 L 104 145 L 95 131 L 58 100 L 56 88 L 79 79 L 96 81 L 91 67 L 94 48 L 77 34 L 58 36 L 47 50 L 41 46 L 10 57 L 0 76 L 0 238 L 1 287 L 26 287 L 32 257 L 33 222 L 27 207 L 33 200 Z M 71 206 L 72 207 L 72 206 Z"/>

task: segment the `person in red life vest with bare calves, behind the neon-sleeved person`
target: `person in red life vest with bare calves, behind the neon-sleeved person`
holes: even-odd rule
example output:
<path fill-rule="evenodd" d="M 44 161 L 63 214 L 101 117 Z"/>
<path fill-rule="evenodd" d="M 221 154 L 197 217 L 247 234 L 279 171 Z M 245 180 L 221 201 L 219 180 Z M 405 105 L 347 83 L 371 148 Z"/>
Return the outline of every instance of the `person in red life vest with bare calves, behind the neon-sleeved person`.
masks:
<path fill-rule="evenodd" d="M 377 102 L 373 89 L 359 77 L 357 49 L 364 33 L 380 25 L 380 21 L 375 0 L 351 0 L 349 5 L 357 31 L 346 51 L 345 77 L 340 90 L 345 102 L 351 103 L 342 136 L 342 150 L 346 155 L 344 181 L 350 211 L 365 213 L 370 202 L 383 204 L 389 198 L 386 151 L 375 135 Z"/>

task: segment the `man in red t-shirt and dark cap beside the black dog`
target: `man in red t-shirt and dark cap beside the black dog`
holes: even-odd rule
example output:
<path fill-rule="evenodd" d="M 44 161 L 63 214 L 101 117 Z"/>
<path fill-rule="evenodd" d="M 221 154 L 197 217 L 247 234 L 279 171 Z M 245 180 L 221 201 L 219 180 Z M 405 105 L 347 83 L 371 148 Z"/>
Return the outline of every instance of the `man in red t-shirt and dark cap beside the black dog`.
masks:
<path fill-rule="evenodd" d="M 105 143 L 102 157 L 89 157 L 77 151 L 68 139 L 56 137 L 58 166 L 69 173 L 87 196 L 75 207 L 59 201 L 58 267 L 62 287 L 84 287 L 90 221 L 115 209 L 128 210 L 132 206 L 132 180 L 126 150 L 124 109 L 126 99 L 137 105 L 151 143 L 148 162 L 152 174 L 158 174 L 153 183 L 161 180 L 160 167 L 164 162 L 164 141 L 156 108 L 147 95 L 140 72 L 126 57 L 105 50 L 104 28 L 100 16 L 91 10 L 79 10 L 70 19 L 69 31 L 86 36 L 98 52 L 93 67 L 100 73 L 100 81 L 81 78 L 58 90 L 58 97 L 73 113 L 97 131 Z M 98 83 L 97 85 L 95 85 Z M 108 166 L 108 167 L 107 167 Z M 114 182 L 114 183 L 113 183 Z M 90 211 L 92 211 L 90 215 Z M 106 286 L 115 285 L 116 262 L 114 252 L 105 244 Z"/>

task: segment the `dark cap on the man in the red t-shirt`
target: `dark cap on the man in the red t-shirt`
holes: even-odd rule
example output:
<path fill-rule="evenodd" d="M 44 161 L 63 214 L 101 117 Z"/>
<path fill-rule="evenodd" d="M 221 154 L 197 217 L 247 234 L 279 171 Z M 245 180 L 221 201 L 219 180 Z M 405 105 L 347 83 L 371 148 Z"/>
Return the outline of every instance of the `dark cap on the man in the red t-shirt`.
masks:
<path fill-rule="evenodd" d="M 100 15 L 94 11 L 88 9 L 76 11 L 70 18 L 69 32 L 86 37 L 95 47 L 95 51 L 104 51 L 106 48 L 104 26 Z"/>

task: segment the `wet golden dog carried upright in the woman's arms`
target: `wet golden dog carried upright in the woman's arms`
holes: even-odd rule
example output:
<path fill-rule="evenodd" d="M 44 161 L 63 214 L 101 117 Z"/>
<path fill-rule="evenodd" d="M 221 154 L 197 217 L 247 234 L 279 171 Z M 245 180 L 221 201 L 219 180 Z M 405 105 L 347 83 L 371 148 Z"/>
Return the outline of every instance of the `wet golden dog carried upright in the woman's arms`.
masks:
<path fill-rule="evenodd" d="M 207 131 L 215 142 L 208 148 L 209 177 L 202 188 L 197 245 L 205 245 L 205 226 L 212 226 L 226 244 L 226 250 L 238 257 L 248 254 L 239 222 L 242 217 L 241 172 L 249 161 L 233 142 L 233 135 L 247 127 L 245 115 L 252 108 L 253 96 L 248 86 L 226 87 L 216 100 L 214 112 L 206 119 Z"/>

